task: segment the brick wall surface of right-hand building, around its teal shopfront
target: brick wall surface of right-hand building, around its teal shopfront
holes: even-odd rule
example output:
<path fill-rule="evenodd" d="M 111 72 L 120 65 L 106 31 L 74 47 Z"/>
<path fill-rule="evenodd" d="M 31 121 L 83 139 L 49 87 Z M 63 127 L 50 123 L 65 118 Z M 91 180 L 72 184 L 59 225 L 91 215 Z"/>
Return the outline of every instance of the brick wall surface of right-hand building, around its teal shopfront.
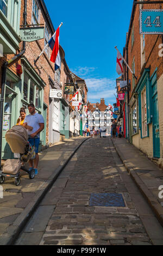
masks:
<path fill-rule="evenodd" d="M 144 4 L 143 9 L 162 9 L 163 4 Z M 128 44 L 128 64 L 130 68 L 132 68 L 133 58 L 135 57 L 135 75 L 137 77 L 137 81 L 135 84 L 139 82 L 139 79 L 143 73 L 145 68 L 150 68 L 150 76 L 152 76 L 153 72 L 157 68 L 157 86 L 158 86 L 158 102 L 159 102 L 159 124 L 160 124 L 160 149 L 161 149 L 161 158 L 163 158 L 163 106 L 162 106 L 162 96 L 163 96 L 163 58 L 159 57 L 159 45 L 162 44 L 163 37 L 162 35 L 145 35 L 145 64 L 141 67 L 141 35 L 139 34 L 139 13 L 140 13 L 140 5 L 136 5 L 133 25 L 131 28 L 134 28 L 134 44 L 133 47 L 131 45 L 131 33 Z M 125 56 L 126 57 L 126 56 Z M 127 77 L 126 77 L 127 78 Z M 129 80 L 131 81 L 131 92 L 130 97 L 133 91 L 132 84 L 132 74 L 129 71 Z M 137 141 L 139 139 L 139 142 Z M 133 137 L 133 144 L 139 146 L 139 148 L 144 151 L 149 157 L 153 156 L 153 129 L 152 124 L 149 125 L 149 137 L 141 139 L 140 133 L 139 137 Z"/>

